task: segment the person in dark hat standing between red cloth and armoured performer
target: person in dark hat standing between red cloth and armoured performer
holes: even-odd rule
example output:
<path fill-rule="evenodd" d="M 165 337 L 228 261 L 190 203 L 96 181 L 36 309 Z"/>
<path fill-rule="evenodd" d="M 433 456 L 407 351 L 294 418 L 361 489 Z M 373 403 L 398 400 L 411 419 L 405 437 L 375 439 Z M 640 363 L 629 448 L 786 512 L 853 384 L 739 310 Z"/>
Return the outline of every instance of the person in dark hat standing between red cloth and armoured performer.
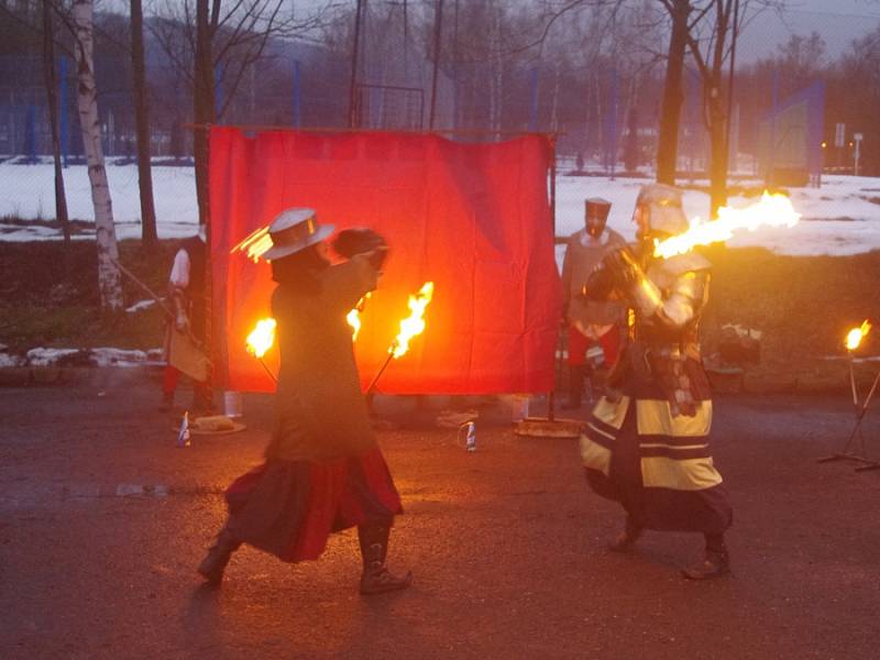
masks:
<path fill-rule="evenodd" d="M 568 328 L 569 400 L 566 409 L 581 407 L 587 349 L 598 343 L 605 364 L 617 362 L 624 306 L 617 300 L 597 300 L 583 296 L 590 274 L 610 251 L 626 245 L 624 238 L 605 227 L 612 204 L 592 198 L 584 202 L 584 228 L 569 237 L 562 262 L 563 324 Z"/>

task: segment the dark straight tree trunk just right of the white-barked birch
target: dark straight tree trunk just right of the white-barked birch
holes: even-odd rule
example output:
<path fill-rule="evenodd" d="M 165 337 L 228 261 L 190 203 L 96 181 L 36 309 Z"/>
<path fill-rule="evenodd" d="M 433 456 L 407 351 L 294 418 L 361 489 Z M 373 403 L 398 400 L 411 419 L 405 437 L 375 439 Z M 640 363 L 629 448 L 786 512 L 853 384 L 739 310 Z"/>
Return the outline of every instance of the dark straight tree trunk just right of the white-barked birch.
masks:
<path fill-rule="evenodd" d="M 141 241 L 144 250 L 156 246 L 156 210 L 150 163 L 150 105 L 144 65 L 144 12 L 141 0 L 131 0 L 131 69 L 134 84 L 134 123 L 138 134 L 138 186 L 141 194 Z"/>

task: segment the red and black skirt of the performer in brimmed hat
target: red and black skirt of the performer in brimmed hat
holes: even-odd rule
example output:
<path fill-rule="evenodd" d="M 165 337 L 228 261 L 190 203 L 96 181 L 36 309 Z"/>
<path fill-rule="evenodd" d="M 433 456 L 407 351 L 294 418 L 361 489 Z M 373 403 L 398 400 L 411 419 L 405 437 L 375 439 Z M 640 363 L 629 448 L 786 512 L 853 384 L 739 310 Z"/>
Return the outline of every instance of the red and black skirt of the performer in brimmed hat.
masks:
<path fill-rule="evenodd" d="M 318 559 L 334 531 L 389 525 L 403 513 L 378 449 L 318 462 L 268 461 L 237 479 L 226 497 L 230 532 L 288 562 Z"/>

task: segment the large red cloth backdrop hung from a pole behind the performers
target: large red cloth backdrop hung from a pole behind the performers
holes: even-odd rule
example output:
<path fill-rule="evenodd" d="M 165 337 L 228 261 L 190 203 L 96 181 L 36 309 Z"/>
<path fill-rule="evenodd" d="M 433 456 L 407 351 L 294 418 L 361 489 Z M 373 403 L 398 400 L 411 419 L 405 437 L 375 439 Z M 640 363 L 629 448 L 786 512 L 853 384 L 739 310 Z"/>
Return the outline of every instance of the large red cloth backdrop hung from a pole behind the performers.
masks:
<path fill-rule="evenodd" d="M 404 133 L 210 135 L 215 373 L 220 386 L 273 389 L 244 340 L 270 316 L 270 266 L 233 245 L 289 207 L 370 227 L 391 245 L 361 314 L 355 354 L 366 387 L 387 355 L 407 297 L 433 280 L 427 329 L 378 382 L 388 394 L 547 392 L 561 288 L 547 195 L 549 142 L 530 135 L 463 144 Z M 275 372 L 277 351 L 265 362 Z"/>

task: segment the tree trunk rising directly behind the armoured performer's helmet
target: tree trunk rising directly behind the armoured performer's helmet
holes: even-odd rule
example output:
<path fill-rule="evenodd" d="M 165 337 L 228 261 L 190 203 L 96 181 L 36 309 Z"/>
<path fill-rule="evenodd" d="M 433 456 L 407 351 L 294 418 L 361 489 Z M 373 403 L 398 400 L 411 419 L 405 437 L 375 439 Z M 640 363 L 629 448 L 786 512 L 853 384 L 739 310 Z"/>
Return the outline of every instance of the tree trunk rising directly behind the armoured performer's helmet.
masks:
<path fill-rule="evenodd" d="M 657 180 L 675 185 L 675 164 L 679 151 L 679 121 L 683 95 L 681 78 L 684 69 L 684 51 L 688 46 L 688 15 L 690 0 L 673 0 L 672 34 L 669 40 L 667 78 L 660 109 L 660 133 L 657 139 Z"/>

